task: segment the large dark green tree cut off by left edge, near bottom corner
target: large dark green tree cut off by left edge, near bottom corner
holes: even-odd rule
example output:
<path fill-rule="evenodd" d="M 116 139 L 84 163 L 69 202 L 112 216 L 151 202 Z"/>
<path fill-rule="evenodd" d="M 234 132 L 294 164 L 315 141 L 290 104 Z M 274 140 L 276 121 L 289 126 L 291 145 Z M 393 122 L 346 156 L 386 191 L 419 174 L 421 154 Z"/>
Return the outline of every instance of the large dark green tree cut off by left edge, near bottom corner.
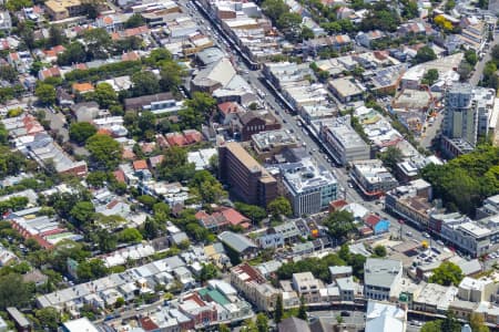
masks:
<path fill-rule="evenodd" d="M 22 281 L 20 274 L 0 277 L 0 310 L 8 307 L 22 308 L 30 302 L 32 295 L 29 284 Z"/>

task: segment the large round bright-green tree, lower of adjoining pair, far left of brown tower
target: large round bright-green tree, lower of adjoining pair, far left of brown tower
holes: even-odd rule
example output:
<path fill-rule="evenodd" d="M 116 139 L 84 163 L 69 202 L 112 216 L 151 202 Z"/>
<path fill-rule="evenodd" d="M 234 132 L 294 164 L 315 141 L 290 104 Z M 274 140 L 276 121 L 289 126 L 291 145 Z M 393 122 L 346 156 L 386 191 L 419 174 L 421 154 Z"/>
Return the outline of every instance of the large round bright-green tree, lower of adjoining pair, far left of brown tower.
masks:
<path fill-rule="evenodd" d="M 99 168 L 113 170 L 121 160 L 121 146 L 108 135 L 95 134 L 86 139 L 91 162 Z"/>

